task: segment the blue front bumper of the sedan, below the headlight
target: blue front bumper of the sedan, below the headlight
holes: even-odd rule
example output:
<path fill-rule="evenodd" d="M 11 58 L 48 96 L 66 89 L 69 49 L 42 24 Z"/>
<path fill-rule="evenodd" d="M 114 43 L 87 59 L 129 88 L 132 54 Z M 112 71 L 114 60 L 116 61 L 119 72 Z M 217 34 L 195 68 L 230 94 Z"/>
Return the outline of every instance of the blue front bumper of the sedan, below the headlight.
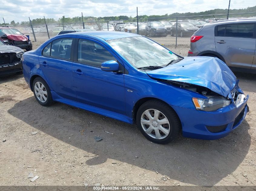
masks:
<path fill-rule="evenodd" d="M 171 107 L 180 117 L 184 137 L 213 140 L 228 135 L 243 122 L 249 111 L 248 98 L 249 96 L 239 107 L 236 107 L 233 102 L 227 107 L 212 112 Z"/>

